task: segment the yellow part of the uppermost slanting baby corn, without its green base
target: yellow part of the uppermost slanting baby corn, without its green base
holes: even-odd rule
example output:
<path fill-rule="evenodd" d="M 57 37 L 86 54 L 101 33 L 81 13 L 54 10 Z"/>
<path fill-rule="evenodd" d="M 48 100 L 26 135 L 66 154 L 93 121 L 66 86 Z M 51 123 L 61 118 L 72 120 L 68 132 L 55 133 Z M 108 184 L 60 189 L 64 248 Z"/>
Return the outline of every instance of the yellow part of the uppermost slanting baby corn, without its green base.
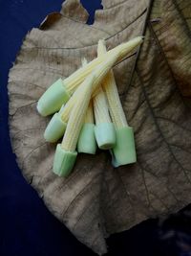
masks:
<path fill-rule="evenodd" d="M 137 36 L 128 42 L 122 43 L 114 49 L 105 53 L 105 55 L 95 58 L 89 62 L 86 66 L 83 66 L 76 70 L 70 77 L 64 80 L 64 85 L 69 94 L 73 94 L 76 87 L 84 81 L 84 79 L 100 64 L 104 59 L 109 58 L 111 55 L 118 53 L 117 61 L 125 58 L 127 54 L 130 54 L 143 40 L 142 36 Z"/>

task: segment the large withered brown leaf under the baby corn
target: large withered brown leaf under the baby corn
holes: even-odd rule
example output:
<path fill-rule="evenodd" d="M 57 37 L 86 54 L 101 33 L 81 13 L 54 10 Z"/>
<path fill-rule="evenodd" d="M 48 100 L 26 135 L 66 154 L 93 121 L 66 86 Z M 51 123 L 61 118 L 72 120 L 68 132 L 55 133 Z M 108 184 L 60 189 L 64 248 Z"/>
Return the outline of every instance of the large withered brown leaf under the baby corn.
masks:
<path fill-rule="evenodd" d="M 23 175 L 53 215 L 98 254 L 107 251 L 110 234 L 178 211 L 191 197 L 191 2 L 102 4 L 92 26 L 76 0 L 47 16 L 26 36 L 9 79 L 11 143 Z M 37 114 L 37 100 L 53 81 L 73 73 L 82 57 L 95 58 L 99 38 L 112 48 L 144 29 L 139 55 L 115 67 L 138 163 L 113 169 L 107 152 L 79 155 L 69 178 L 56 177 L 55 145 L 43 139 L 50 118 Z"/>

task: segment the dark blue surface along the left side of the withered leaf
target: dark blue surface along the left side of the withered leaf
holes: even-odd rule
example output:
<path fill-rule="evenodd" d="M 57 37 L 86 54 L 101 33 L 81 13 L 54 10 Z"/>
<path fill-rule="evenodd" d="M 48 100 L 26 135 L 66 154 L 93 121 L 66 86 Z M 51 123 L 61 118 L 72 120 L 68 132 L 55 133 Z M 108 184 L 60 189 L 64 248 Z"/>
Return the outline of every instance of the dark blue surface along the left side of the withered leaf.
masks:
<path fill-rule="evenodd" d="M 94 255 L 57 221 L 21 175 L 11 152 L 7 81 L 22 39 L 62 0 L 0 1 L 0 256 Z"/>

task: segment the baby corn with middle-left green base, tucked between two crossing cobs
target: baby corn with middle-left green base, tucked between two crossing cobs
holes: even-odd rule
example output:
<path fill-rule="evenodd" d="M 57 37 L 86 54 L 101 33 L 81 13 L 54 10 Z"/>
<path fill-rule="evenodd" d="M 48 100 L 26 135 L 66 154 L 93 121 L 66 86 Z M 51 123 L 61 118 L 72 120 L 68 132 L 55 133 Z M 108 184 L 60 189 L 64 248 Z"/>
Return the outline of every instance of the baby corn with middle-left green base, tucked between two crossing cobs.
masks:
<path fill-rule="evenodd" d="M 112 68 L 114 63 L 117 61 L 117 58 L 118 58 L 118 53 L 116 53 L 116 55 L 110 56 L 108 59 L 106 59 L 100 65 L 97 66 L 96 70 L 93 72 L 93 74 L 95 76 L 95 81 L 93 83 L 91 83 L 91 85 L 90 85 L 90 86 L 92 86 L 93 91 L 95 91 L 96 88 L 100 85 L 100 82 L 103 80 L 103 78 L 107 75 L 108 71 Z M 73 96 L 70 98 L 70 100 L 66 103 L 66 105 L 63 107 L 63 109 L 60 111 L 60 114 L 58 117 L 61 119 L 60 123 L 63 124 L 63 127 L 64 126 L 66 127 L 66 124 L 69 120 L 71 110 L 73 109 L 78 97 L 80 97 L 82 88 L 83 88 L 83 82 L 75 90 Z M 56 128 L 53 127 L 53 122 L 54 122 L 54 116 L 53 116 L 53 120 L 51 120 L 48 127 L 46 128 L 46 130 L 49 130 L 49 134 L 52 131 L 54 132 L 54 130 L 56 130 Z M 55 122 L 55 125 L 57 125 L 56 122 Z M 53 139 L 56 138 L 56 140 L 58 140 L 60 138 L 61 134 L 63 135 L 63 133 L 64 133 L 63 127 L 60 126 L 60 132 L 51 134 L 50 137 L 53 137 Z M 46 139 L 47 139 L 47 141 L 49 141 L 48 136 L 46 137 Z M 50 142 L 51 142 L 51 140 L 50 140 Z"/>

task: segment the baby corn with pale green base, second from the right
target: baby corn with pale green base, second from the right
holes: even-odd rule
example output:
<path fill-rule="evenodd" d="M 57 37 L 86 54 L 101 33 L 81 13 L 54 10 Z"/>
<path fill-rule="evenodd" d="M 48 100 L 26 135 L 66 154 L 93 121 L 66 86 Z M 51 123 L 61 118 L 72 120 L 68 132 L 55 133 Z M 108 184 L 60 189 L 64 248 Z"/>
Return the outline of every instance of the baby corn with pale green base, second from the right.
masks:
<path fill-rule="evenodd" d="M 102 55 L 101 47 L 98 43 L 97 56 Z M 96 142 L 99 149 L 109 150 L 116 144 L 116 130 L 111 121 L 108 104 L 102 86 L 99 87 L 98 93 L 94 97 L 94 112 L 96 120 Z"/>

